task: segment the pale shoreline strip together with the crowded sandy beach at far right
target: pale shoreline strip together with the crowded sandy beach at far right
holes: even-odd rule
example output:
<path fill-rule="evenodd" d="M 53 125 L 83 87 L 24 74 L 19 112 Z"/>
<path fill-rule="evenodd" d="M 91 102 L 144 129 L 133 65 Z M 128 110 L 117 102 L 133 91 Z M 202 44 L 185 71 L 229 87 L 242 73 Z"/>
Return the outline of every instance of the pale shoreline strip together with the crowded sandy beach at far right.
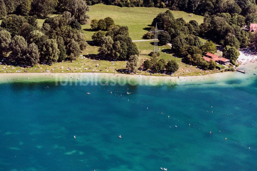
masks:
<path fill-rule="evenodd" d="M 153 75 L 130 75 L 130 74 L 114 74 L 114 73 L 1 73 L 0 83 L 5 82 L 40 82 L 55 81 L 60 82 L 77 82 L 77 84 L 97 84 L 109 85 L 111 83 L 131 85 L 185 85 L 190 83 L 216 82 L 220 79 L 244 78 L 248 74 L 252 75 L 255 71 L 257 56 L 245 55 L 240 51 L 238 61 L 242 62 L 238 69 L 246 70 L 247 73 L 239 72 L 219 72 L 208 75 L 197 75 L 187 77 L 170 77 L 170 76 L 153 76 Z M 86 82 L 86 83 L 85 83 Z M 57 84 L 57 85 L 58 85 Z"/>

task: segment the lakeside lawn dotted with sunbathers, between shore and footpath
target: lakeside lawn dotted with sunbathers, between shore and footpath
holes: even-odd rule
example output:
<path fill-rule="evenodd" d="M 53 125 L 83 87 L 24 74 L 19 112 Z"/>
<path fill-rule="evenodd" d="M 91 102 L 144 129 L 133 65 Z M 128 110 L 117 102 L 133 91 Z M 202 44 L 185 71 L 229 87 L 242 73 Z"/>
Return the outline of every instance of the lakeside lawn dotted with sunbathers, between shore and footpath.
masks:
<path fill-rule="evenodd" d="M 151 42 L 135 42 L 136 45 L 139 48 L 140 54 L 148 54 L 152 51 L 153 45 Z M 160 56 L 159 59 L 163 58 L 165 60 L 176 60 L 176 62 L 179 64 L 179 70 L 174 73 L 174 76 L 186 76 L 186 75 L 206 75 L 208 74 L 209 70 L 206 70 L 204 73 L 202 73 L 199 69 L 197 70 L 195 66 L 189 66 L 182 61 L 181 58 L 176 58 L 170 53 L 170 46 L 164 45 L 164 46 L 158 46 L 160 48 Z M 42 65 L 39 66 L 33 66 L 32 68 L 26 68 L 28 72 L 45 72 L 45 70 L 51 71 L 52 73 L 66 73 L 66 72 L 107 72 L 107 73 L 114 73 L 118 69 L 124 69 L 126 68 L 126 62 L 125 61 L 115 61 L 112 62 L 106 61 L 106 60 L 98 60 L 97 58 L 97 50 L 98 46 L 94 46 L 94 44 L 90 43 L 88 47 L 81 53 L 81 55 L 77 60 L 71 62 L 62 62 L 62 63 L 54 63 L 53 65 Z M 96 60 L 90 59 L 89 57 L 95 56 Z M 142 64 L 142 59 L 144 61 L 145 58 L 151 59 L 148 55 L 139 55 L 139 62 L 138 67 Z M 1 61 L 2 63 L 5 63 L 4 61 Z M 13 69 L 12 69 L 13 67 Z M 57 68 L 56 68 L 57 67 Z M 67 70 L 67 68 L 71 68 L 71 70 Z M 17 70 L 22 70 L 21 72 L 24 73 L 24 68 L 21 67 L 15 67 L 15 66 L 8 66 L 8 65 L 0 65 L 0 71 L 1 72 L 10 72 L 15 73 Z M 36 70 L 35 70 L 36 69 Z M 86 69 L 86 70 L 85 70 Z M 102 70 L 102 71 L 100 71 Z M 191 70 L 191 71 L 188 71 Z M 209 71 L 210 73 L 213 73 L 214 71 Z M 47 71 L 45 72 L 48 73 Z M 49 73 L 50 74 L 50 73 Z M 148 72 L 141 72 L 143 75 L 149 75 Z M 153 74 L 157 76 L 163 76 L 163 74 Z"/>

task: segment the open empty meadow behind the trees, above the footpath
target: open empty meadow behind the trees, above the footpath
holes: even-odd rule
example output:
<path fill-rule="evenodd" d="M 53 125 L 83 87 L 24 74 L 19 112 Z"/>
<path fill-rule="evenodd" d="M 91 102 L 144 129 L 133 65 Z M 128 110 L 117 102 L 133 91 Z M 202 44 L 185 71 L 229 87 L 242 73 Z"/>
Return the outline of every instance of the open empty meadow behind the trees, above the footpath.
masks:
<path fill-rule="evenodd" d="M 167 11 L 168 8 L 147 8 L 147 7 L 118 7 L 113 5 L 96 4 L 90 6 L 88 12 L 90 19 L 88 24 L 82 25 L 82 30 L 86 34 L 87 40 L 92 40 L 91 36 L 94 32 L 90 30 L 90 22 L 93 19 L 103 19 L 105 17 L 113 18 L 115 24 L 126 25 L 132 40 L 142 40 L 142 36 L 147 32 L 149 24 L 152 23 L 153 18 L 160 12 Z M 196 20 L 199 24 L 203 23 L 203 16 L 193 15 L 183 11 L 171 11 L 175 18 L 183 17 L 185 21 Z M 146 30 L 144 30 L 146 29 Z M 149 29 L 148 29 L 149 30 Z"/>

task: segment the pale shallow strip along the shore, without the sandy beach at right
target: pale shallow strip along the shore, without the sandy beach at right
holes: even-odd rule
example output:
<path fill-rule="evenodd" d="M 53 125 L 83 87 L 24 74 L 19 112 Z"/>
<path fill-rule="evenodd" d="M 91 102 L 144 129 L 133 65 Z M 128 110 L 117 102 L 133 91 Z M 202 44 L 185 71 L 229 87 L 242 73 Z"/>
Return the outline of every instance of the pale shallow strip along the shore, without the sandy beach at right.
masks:
<path fill-rule="evenodd" d="M 249 74 L 247 74 L 249 75 Z M 56 85 L 185 85 L 215 83 L 220 80 L 244 78 L 246 74 L 239 72 L 213 73 L 188 77 L 170 77 L 154 75 L 128 75 L 112 73 L 8 73 L 0 74 L 0 83 L 8 82 L 55 82 Z M 28 79 L 29 78 L 29 79 Z"/>

